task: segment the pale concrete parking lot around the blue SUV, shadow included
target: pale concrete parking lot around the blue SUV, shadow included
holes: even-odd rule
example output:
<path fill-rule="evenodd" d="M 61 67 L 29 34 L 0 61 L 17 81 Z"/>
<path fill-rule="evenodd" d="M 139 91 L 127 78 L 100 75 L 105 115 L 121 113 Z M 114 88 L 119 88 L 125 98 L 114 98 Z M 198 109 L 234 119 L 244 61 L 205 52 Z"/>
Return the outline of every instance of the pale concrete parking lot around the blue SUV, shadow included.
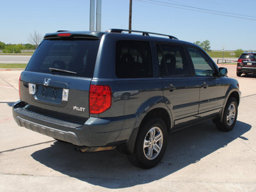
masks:
<path fill-rule="evenodd" d="M 15 124 L 21 71 L 0 71 L 0 191 L 256 191 L 256 76 L 239 81 L 237 124 L 220 132 L 205 122 L 168 136 L 161 163 L 132 166 L 117 150 L 86 154 Z"/>

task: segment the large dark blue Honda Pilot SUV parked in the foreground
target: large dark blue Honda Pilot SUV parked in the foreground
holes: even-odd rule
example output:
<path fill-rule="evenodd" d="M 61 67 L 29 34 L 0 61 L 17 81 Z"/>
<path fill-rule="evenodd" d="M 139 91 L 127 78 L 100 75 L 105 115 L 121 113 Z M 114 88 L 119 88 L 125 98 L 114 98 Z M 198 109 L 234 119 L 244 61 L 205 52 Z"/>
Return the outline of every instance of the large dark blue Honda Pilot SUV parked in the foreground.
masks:
<path fill-rule="evenodd" d="M 127 31 L 45 35 L 20 75 L 17 124 L 87 152 L 117 147 L 141 168 L 161 161 L 171 132 L 209 119 L 233 129 L 240 92 L 227 68 L 174 36 Z"/>

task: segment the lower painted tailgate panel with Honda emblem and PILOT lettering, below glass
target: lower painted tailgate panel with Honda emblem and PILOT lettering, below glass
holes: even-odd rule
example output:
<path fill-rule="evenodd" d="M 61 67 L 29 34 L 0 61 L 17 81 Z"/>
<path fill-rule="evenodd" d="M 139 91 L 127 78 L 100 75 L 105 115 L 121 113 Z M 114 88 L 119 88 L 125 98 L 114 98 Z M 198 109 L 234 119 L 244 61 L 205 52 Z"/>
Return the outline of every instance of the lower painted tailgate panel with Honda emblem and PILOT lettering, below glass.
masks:
<path fill-rule="evenodd" d="M 84 123 L 89 118 L 91 80 L 24 71 L 20 77 L 20 100 L 29 111 Z"/>

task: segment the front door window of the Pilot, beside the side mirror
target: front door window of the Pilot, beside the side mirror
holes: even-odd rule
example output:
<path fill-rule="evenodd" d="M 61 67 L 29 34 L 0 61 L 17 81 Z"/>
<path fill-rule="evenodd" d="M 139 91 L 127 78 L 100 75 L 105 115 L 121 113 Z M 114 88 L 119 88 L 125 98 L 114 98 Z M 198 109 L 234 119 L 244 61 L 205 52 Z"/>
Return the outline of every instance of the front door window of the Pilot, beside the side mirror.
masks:
<path fill-rule="evenodd" d="M 213 76 L 214 68 L 209 63 L 209 59 L 198 49 L 188 47 L 191 60 L 193 62 L 196 76 Z"/>

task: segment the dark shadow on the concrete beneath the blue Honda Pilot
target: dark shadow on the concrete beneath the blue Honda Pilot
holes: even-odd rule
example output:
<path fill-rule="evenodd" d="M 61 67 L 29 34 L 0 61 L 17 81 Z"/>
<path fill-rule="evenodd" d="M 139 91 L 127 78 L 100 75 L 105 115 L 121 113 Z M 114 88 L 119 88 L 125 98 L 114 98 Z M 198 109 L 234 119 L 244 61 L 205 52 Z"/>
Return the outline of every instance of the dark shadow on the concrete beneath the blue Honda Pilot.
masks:
<path fill-rule="evenodd" d="M 250 131 L 251 125 L 237 121 L 231 132 L 220 132 L 212 122 L 175 132 L 168 136 L 168 147 L 160 164 L 150 170 L 132 166 L 118 150 L 91 154 L 74 150 L 74 145 L 56 141 L 31 156 L 45 166 L 95 186 L 129 188 L 162 179 L 226 147 Z"/>

